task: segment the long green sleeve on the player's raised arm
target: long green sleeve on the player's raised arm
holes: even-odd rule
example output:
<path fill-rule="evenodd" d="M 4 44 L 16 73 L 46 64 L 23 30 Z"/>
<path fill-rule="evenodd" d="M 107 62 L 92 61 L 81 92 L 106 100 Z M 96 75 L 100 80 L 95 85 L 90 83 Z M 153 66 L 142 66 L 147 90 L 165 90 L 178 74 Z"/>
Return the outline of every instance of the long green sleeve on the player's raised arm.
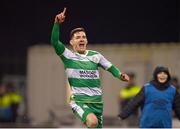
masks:
<path fill-rule="evenodd" d="M 59 28 L 60 25 L 58 23 L 54 23 L 51 33 L 51 44 L 54 47 L 56 54 L 62 55 L 65 50 L 65 46 L 61 41 L 59 41 L 59 35 L 60 35 Z"/>

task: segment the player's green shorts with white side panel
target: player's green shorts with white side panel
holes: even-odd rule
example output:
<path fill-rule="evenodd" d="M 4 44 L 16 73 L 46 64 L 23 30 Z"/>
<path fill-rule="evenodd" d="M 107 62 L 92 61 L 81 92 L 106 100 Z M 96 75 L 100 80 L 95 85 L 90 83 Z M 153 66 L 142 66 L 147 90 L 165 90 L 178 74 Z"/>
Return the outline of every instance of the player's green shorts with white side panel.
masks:
<path fill-rule="evenodd" d="M 98 118 L 98 127 L 103 125 L 103 103 L 84 103 L 71 101 L 70 106 L 73 113 L 81 119 L 83 123 L 86 122 L 86 117 L 90 113 L 94 113 Z"/>

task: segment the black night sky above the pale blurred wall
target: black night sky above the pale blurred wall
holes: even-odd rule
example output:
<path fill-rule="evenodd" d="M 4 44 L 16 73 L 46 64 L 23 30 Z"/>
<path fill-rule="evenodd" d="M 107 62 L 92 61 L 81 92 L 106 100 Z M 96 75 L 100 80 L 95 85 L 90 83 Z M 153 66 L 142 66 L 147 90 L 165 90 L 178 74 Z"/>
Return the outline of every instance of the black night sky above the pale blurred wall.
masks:
<path fill-rule="evenodd" d="M 1 0 L 2 55 L 22 55 L 50 42 L 55 15 L 67 7 L 61 32 L 68 43 L 82 26 L 90 43 L 177 42 L 179 0 Z"/>

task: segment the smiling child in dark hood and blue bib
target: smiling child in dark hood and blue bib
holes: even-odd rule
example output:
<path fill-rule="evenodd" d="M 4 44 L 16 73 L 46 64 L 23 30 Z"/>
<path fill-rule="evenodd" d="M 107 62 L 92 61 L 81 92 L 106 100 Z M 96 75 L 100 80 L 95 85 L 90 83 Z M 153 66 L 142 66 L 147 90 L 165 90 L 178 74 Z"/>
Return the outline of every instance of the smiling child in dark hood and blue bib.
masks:
<path fill-rule="evenodd" d="M 126 119 L 140 106 L 140 128 L 172 128 L 173 110 L 180 120 L 180 94 L 170 80 L 168 68 L 157 66 L 153 79 L 142 87 L 118 116 Z"/>

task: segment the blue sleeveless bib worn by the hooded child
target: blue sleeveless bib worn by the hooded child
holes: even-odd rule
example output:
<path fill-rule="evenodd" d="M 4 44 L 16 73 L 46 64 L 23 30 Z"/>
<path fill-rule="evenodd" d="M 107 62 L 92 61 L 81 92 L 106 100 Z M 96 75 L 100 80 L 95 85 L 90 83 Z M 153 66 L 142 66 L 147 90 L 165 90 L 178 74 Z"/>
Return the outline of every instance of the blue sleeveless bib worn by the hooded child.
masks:
<path fill-rule="evenodd" d="M 172 106 L 175 92 L 172 85 L 161 91 L 150 83 L 145 84 L 145 102 L 141 107 L 140 128 L 172 127 Z"/>

